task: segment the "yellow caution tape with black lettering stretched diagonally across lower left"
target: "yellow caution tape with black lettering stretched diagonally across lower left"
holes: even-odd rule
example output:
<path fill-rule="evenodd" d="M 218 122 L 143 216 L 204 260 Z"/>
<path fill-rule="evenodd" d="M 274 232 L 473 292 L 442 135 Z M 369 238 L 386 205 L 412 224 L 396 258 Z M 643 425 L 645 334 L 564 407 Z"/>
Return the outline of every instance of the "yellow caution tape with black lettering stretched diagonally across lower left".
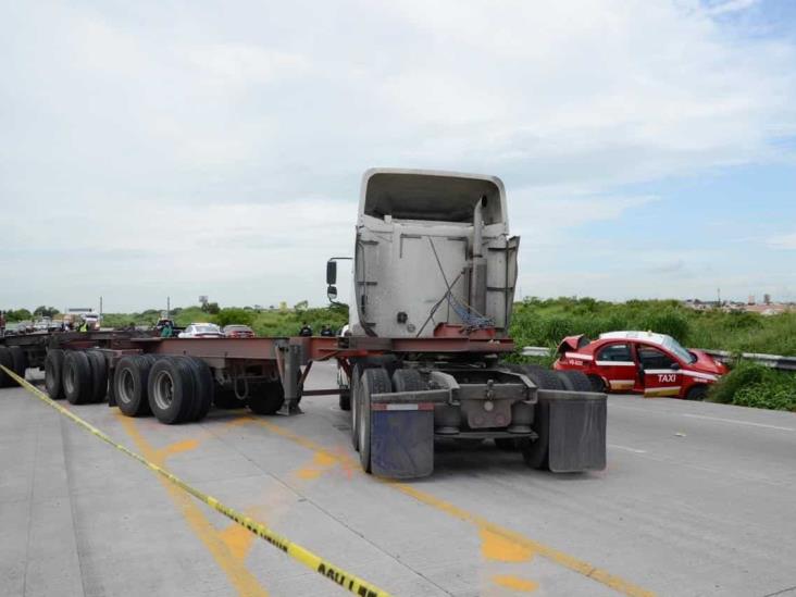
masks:
<path fill-rule="evenodd" d="M 52 400 L 49 396 L 47 396 L 43 391 L 38 389 L 37 387 L 33 386 L 32 384 L 27 383 L 25 380 L 20 377 L 16 373 L 13 371 L 7 369 L 3 365 L 0 365 L 0 369 L 5 372 L 7 375 L 12 377 L 22 387 L 27 389 L 29 393 L 32 393 L 37 398 L 45 401 L 47 405 L 59 411 L 61 414 L 64 414 L 72 419 L 75 423 L 80 425 L 83 428 L 89 431 L 102 441 L 105 441 L 107 444 L 110 444 L 114 448 L 123 451 L 130 458 L 137 460 L 141 464 L 145 464 L 146 467 L 153 470 L 156 473 L 166 477 L 169 481 L 171 481 L 174 485 L 183 489 L 184 492 L 187 492 L 195 498 L 197 498 L 199 501 L 202 501 L 216 510 L 217 512 L 221 512 L 226 518 L 234 520 L 236 523 L 238 523 L 241 526 L 245 526 L 254 535 L 258 537 L 261 537 L 269 542 L 271 545 L 276 547 L 277 549 L 284 551 L 289 557 L 291 557 L 294 560 L 297 560 L 304 564 L 307 568 L 314 570 L 319 574 L 325 576 L 329 581 L 334 582 L 335 584 L 339 585 L 340 587 L 345 588 L 349 593 L 353 593 L 355 595 L 359 595 L 360 597 L 389 597 L 389 593 L 386 590 L 383 590 L 375 585 L 372 585 L 371 583 L 363 581 L 359 576 L 356 576 L 351 574 L 350 572 L 347 572 L 343 570 L 340 567 L 333 564 L 328 560 L 325 560 L 321 558 L 320 556 L 316 556 L 309 549 L 306 549 L 301 547 L 300 545 L 293 543 L 291 540 L 283 537 L 282 535 L 274 533 L 271 531 L 268 526 L 262 524 L 261 522 L 258 522 L 253 519 L 250 519 L 249 517 L 245 517 L 237 510 L 229 508 L 228 506 L 224 506 L 217 499 L 215 499 L 212 496 L 209 496 L 208 494 L 200 492 L 199 489 L 191 487 L 188 485 L 185 481 L 179 478 L 178 476 L 170 473 L 165 469 L 158 467 L 153 462 L 150 462 L 142 456 L 134 452 L 133 450 L 125 448 L 121 444 L 115 443 L 113 439 L 111 439 L 108 435 L 102 433 L 100 430 L 88 423 L 87 421 L 84 421 L 79 416 L 77 416 L 74 412 L 70 411 L 69 409 L 65 409 L 54 400 Z"/>

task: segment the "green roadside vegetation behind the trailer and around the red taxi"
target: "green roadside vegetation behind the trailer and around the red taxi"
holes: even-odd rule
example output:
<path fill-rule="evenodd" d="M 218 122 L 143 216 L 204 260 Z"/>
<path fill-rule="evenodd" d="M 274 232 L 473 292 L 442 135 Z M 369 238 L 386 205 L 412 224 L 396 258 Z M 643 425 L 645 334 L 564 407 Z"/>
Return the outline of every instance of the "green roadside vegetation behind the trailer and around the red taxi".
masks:
<path fill-rule="evenodd" d="M 39 307 L 33 313 L 24 309 L 8 311 L 10 322 L 32 319 L 36 314 L 57 312 Z M 45 313 L 48 311 L 48 313 Z M 54 314 L 54 313 L 52 313 Z M 161 311 L 140 313 L 104 313 L 103 325 L 126 327 L 154 325 Z M 256 310 L 251 307 L 221 308 L 214 302 L 175 308 L 172 318 L 184 327 L 192 322 L 219 325 L 250 325 L 258 335 L 291 336 L 306 322 L 319 333 L 327 324 L 338 331 L 348 321 L 346 306 L 308 308 L 306 302 L 286 310 Z M 669 334 L 693 348 L 741 352 L 764 352 L 796 356 L 796 313 L 762 316 L 756 313 L 725 313 L 719 310 L 696 311 L 676 300 L 630 300 L 623 303 L 592 298 L 528 298 L 515 304 L 511 335 L 518 347 L 540 346 L 555 349 L 564 336 L 585 334 L 596 338 L 617 329 L 651 329 Z M 512 360 L 534 361 L 549 366 L 555 357 Z M 711 388 L 708 400 L 748 407 L 796 411 L 796 375 L 781 373 L 762 365 L 735 359 L 733 371 Z"/>

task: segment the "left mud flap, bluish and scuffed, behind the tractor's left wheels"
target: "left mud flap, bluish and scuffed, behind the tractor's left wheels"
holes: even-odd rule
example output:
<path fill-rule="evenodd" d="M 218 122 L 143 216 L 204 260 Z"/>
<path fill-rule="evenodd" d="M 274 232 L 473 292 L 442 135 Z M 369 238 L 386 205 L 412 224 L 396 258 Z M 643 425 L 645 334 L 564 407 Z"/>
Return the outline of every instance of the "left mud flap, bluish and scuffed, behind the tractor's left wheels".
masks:
<path fill-rule="evenodd" d="M 434 472 L 434 411 L 386 407 L 373 405 L 371 411 L 371 472 L 386 478 L 428 476 Z"/>

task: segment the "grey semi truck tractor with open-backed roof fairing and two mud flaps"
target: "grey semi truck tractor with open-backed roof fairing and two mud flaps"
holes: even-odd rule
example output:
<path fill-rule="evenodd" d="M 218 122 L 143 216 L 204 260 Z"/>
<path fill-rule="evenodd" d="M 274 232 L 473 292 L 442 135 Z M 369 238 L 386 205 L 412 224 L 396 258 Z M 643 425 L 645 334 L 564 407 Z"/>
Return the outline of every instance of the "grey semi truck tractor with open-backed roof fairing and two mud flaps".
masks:
<path fill-rule="evenodd" d="M 493 439 L 555 472 L 605 468 L 605 395 L 584 375 L 506 362 L 519 245 L 495 176 L 364 174 L 338 378 L 365 471 L 427 475 L 449 438 Z M 326 272 L 336 297 L 336 259 Z"/>

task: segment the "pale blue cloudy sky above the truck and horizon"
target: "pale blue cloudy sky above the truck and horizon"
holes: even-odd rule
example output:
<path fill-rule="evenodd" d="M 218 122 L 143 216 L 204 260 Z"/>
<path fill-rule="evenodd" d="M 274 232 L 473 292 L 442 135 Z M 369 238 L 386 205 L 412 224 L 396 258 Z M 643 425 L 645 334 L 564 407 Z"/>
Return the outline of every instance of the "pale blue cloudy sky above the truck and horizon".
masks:
<path fill-rule="evenodd" d="M 522 296 L 796 300 L 796 2 L 0 0 L 0 309 L 324 304 L 372 166 Z"/>

